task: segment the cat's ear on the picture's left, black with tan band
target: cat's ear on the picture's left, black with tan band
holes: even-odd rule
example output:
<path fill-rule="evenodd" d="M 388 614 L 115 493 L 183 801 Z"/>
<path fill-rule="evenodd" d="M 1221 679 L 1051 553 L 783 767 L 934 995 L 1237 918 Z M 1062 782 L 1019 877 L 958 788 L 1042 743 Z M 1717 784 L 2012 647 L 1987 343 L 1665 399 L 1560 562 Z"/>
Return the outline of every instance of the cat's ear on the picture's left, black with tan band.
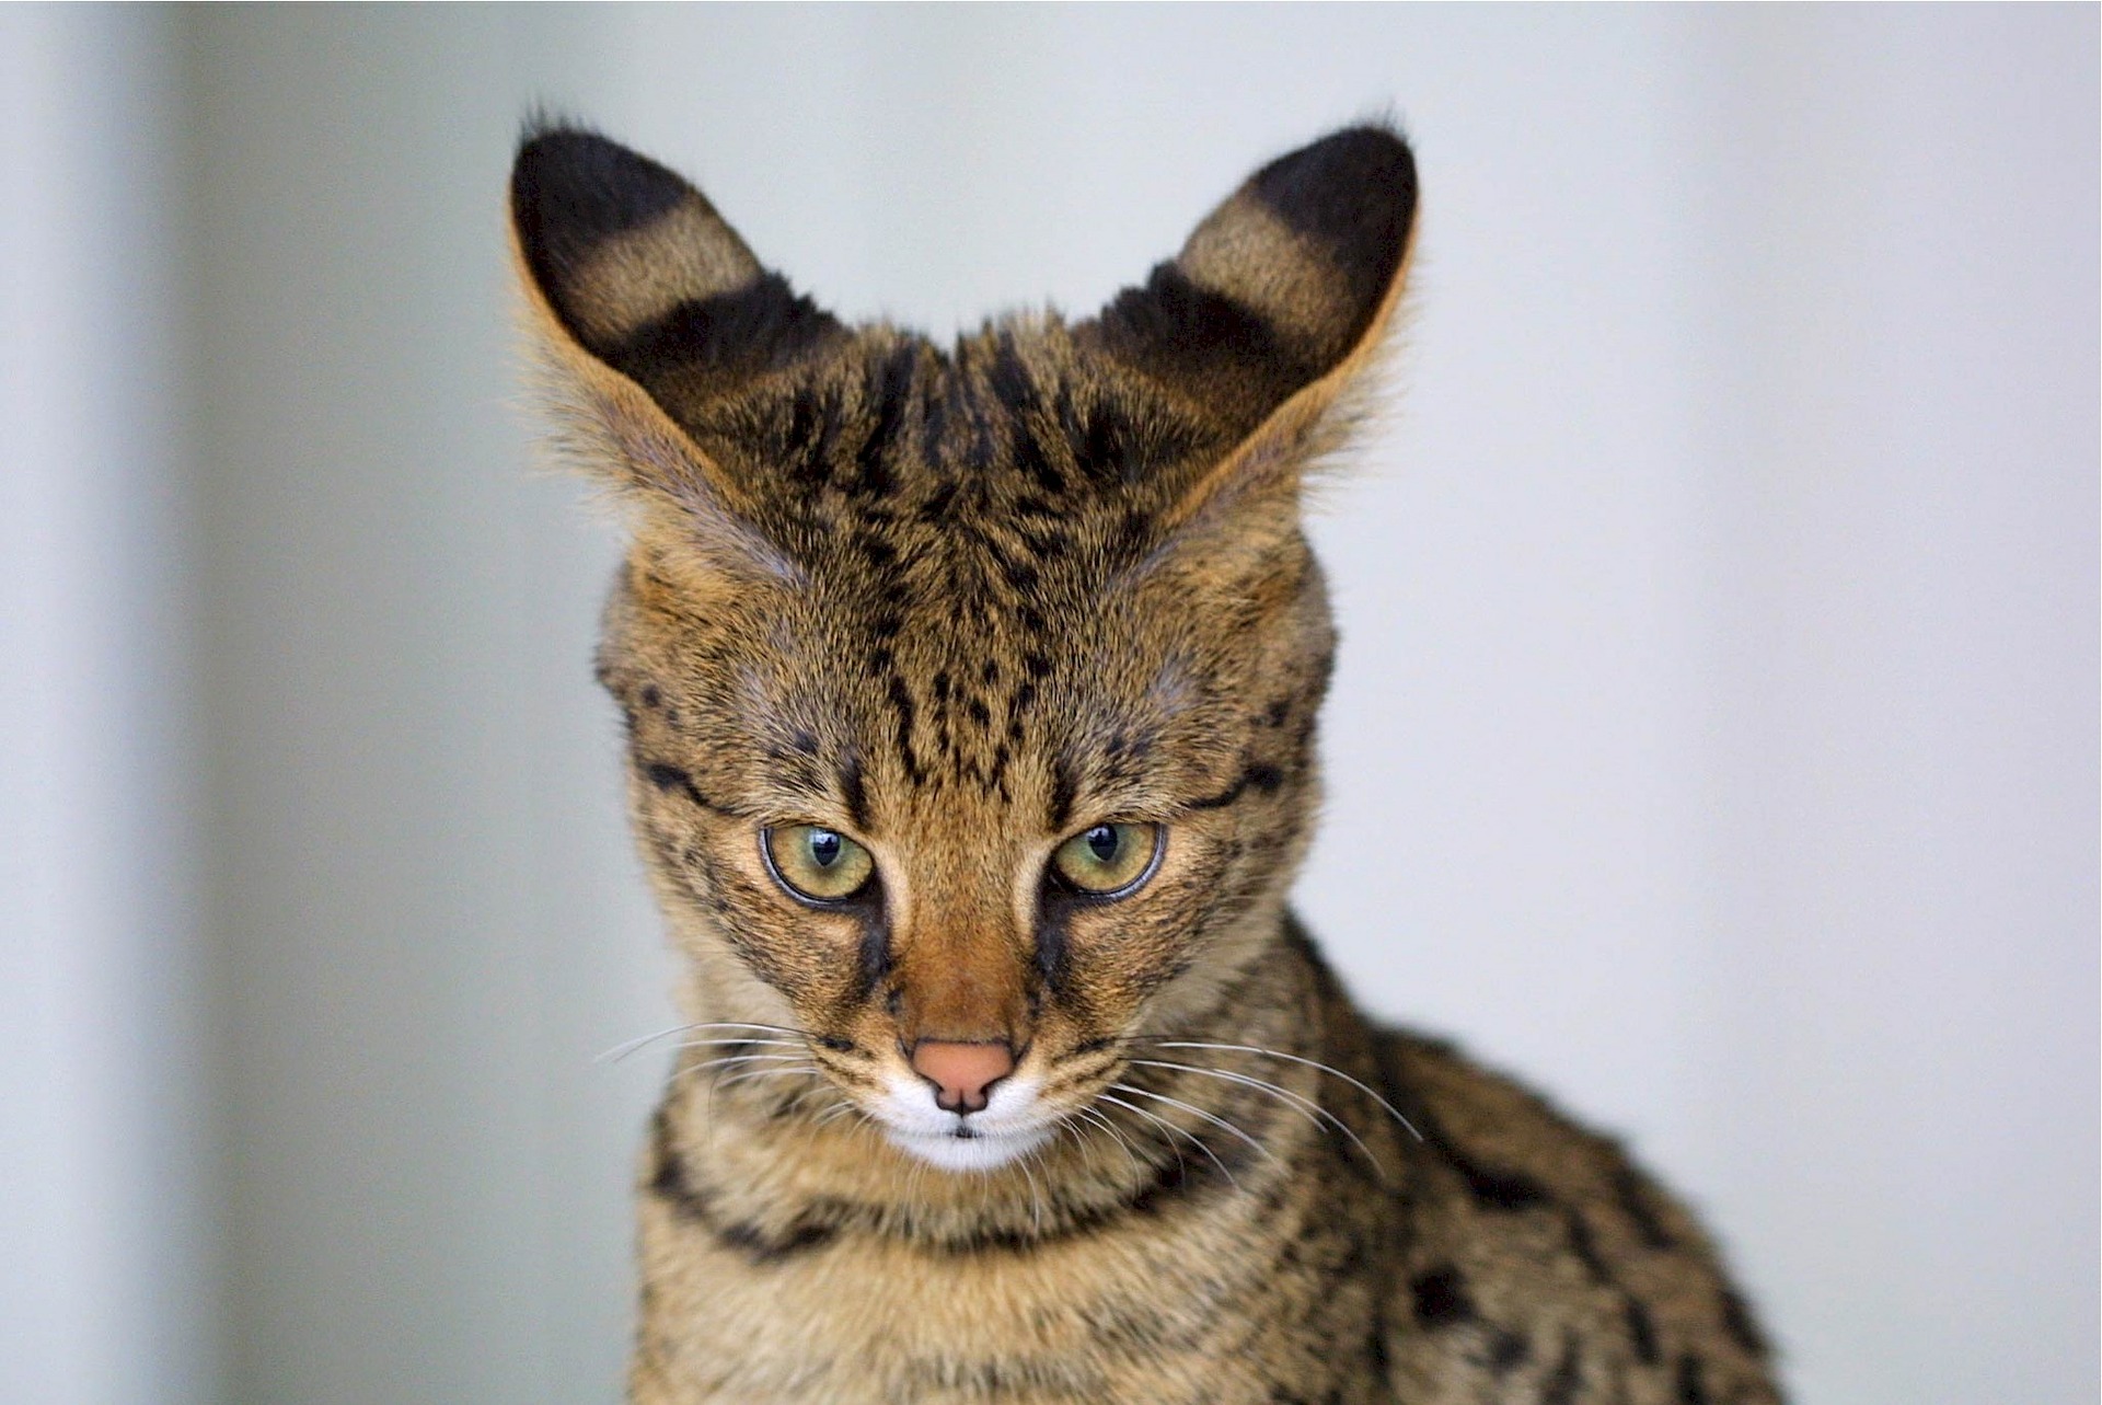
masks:
<path fill-rule="evenodd" d="M 565 454 L 681 509 L 723 566 L 792 570 L 694 425 L 845 334 L 839 322 L 761 267 L 681 177 L 572 126 L 519 143 L 511 250 Z"/>

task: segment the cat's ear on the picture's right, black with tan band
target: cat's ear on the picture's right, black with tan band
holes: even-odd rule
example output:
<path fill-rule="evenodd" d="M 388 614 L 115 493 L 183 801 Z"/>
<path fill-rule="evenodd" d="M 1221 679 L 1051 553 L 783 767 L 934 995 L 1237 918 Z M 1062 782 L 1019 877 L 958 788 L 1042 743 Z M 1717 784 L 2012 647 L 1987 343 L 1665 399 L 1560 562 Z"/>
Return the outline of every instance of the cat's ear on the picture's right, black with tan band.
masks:
<path fill-rule="evenodd" d="M 1396 130 L 1322 137 L 1249 177 L 1171 263 L 1078 328 L 1236 446 L 1194 482 L 1162 484 L 1167 526 L 1221 492 L 1295 486 L 1326 448 L 1400 301 L 1415 212 L 1417 166 Z"/>

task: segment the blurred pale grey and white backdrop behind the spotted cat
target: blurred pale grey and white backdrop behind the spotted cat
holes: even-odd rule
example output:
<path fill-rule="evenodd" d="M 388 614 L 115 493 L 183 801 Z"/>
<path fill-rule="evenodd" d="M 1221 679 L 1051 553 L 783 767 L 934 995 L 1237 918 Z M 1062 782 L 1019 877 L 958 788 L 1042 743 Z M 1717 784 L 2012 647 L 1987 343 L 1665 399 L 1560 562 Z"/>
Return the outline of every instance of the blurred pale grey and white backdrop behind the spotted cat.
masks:
<path fill-rule="evenodd" d="M 671 1022 L 534 467 L 532 103 L 845 315 L 1366 114 L 1299 902 L 1627 1134 L 1799 1401 L 2098 1394 L 2098 11 L 0 11 L 0 1401 L 614 1401 Z"/>

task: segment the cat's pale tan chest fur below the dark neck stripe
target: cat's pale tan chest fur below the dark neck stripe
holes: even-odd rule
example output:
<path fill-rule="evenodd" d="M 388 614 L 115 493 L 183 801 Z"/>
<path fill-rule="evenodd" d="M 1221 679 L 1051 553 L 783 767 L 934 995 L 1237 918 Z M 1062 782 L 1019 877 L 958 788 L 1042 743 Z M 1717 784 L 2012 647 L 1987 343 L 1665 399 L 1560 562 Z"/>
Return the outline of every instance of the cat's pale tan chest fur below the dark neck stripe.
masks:
<path fill-rule="evenodd" d="M 1345 1308 L 1333 1283 L 1276 1268 L 1246 1226 L 969 1254 L 841 1237 L 755 1256 L 656 1207 L 635 1399 L 1272 1399 L 1280 1373 L 1333 1369 L 1265 1361 L 1272 1327 Z M 1343 1296 L 1368 1315 L 1368 1294 Z M 658 1397 L 641 1388 L 652 1376 Z"/>

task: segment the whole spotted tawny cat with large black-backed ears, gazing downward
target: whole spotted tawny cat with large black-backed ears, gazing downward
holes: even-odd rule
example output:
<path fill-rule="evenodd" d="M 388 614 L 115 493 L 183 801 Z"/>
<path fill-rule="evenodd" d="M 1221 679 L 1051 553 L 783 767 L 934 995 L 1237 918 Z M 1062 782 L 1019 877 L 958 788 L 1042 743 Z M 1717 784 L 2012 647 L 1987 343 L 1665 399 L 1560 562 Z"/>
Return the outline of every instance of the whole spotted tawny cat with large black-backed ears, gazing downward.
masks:
<path fill-rule="evenodd" d="M 683 957 L 637 1405 L 1776 1401 L 1686 1209 L 1286 911 L 1299 522 L 1408 269 L 1383 126 L 1085 322 L 845 326 L 538 124 L 555 437 L 633 507 L 599 677 Z"/>

